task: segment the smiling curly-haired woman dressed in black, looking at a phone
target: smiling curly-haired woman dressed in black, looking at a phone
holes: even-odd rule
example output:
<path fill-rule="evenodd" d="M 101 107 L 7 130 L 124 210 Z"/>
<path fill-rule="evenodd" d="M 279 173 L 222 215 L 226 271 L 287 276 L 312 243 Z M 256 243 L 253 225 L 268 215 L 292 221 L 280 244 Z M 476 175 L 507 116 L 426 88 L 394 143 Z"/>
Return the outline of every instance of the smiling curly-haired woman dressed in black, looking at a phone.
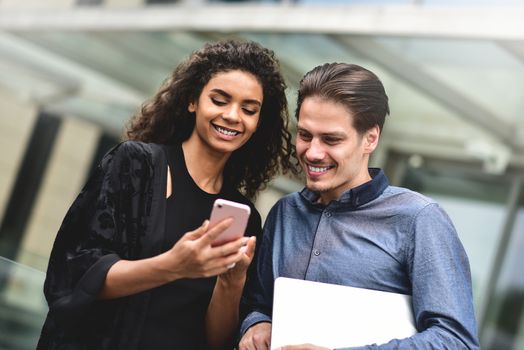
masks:
<path fill-rule="evenodd" d="M 292 168 L 284 90 L 253 42 L 208 44 L 175 69 L 62 223 L 39 349 L 229 346 L 255 238 L 213 247 L 231 221 L 206 219 L 217 198 L 242 202 L 260 233 L 248 198 Z"/>

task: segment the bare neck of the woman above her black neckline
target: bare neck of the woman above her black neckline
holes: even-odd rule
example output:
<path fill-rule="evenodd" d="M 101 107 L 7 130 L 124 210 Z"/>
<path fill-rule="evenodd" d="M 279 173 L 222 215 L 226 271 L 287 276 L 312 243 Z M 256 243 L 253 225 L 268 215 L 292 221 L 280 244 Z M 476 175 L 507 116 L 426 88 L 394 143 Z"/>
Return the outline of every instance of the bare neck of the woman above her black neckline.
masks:
<path fill-rule="evenodd" d="M 214 152 L 193 138 L 182 143 L 182 150 L 187 171 L 197 186 L 208 193 L 220 192 L 229 154 Z"/>

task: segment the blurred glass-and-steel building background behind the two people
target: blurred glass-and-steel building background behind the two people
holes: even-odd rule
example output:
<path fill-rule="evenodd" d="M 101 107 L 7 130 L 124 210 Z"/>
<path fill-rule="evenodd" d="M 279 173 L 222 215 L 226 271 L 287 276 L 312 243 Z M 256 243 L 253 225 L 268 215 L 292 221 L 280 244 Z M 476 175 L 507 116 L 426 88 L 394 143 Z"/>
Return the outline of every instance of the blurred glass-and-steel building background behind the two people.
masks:
<path fill-rule="evenodd" d="M 35 347 L 49 252 L 93 167 L 182 59 L 223 38 L 276 52 L 291 114 L 316 65 L 382 79 L 372 165 L 451 216 L 482 348 L 524 349 L 523 18 L 522 0 L 0 0 L 0 349 Z M 280 177 L 256 205 L 301 187 Z"/>

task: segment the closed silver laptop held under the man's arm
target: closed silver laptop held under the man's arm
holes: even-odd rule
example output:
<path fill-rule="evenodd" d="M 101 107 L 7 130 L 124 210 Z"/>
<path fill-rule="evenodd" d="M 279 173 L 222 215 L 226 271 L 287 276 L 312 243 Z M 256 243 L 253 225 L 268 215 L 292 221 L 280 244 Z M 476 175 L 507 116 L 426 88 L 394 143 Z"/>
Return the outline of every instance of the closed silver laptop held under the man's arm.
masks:
<path fill-rule="evenodd" d="M 411 297 L 279 277 L 271 349 L 311 343 L 328 348 L 383 344 L 417 332 Z"/>

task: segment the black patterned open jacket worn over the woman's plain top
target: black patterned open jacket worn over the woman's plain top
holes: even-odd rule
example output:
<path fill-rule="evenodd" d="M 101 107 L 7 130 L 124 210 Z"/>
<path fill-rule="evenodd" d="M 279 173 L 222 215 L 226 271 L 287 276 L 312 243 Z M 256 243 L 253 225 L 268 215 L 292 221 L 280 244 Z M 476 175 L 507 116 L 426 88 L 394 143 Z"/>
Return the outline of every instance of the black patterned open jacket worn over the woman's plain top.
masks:
<path fill-rule="evenodd" d="M 155 308 L 153 292 L 105 301 L 96 296 L 119 259 L 157 255 L 176 239 L 164 240 L 166 175 L 165 146 L 126 141 L 106 154 L 57 233 L 44 284 L 49 312 L 37 349 L 139 348 L 148 309 Z M 258 235 L 260 216 L 252 209 L 256 229 L 248 232 Z"/>

